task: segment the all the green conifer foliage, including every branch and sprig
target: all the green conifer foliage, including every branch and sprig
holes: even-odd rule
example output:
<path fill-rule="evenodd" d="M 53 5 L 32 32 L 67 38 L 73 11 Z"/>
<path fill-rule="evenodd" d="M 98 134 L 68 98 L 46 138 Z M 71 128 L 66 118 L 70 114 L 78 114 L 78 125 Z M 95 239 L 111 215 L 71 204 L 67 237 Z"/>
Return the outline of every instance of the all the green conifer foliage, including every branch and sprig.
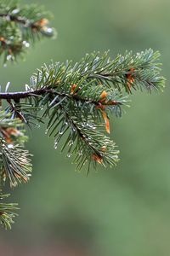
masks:
<path fill-rule="evenodd" d="M 3 65 L 17 61 L 40 38 L 54 38 L 48 26 L 51 15 L 36 5 L 20 7 L 17 1 L 0 0 L 0 55 Z M 0 185 L 15 187 L 31 177 L 31 154 L 25 149 L 25 126 L 48 119 L 48 136 L 54 148 L 61 138 L 62 151 L 87 174 L 91 166 L 114 166 L 119 160 L 110 133 L 109 115 L 122 116 L 134 90 L 163 90 L 160 54 L 146 49 L 126 52 L 111 60 L 108 52 L 87 54 L 72 64 L 44 65 L 22 91 L 11 92 L 9 83 L 0 91 Z M 3 102 L 6 104 L 3 105 Z M 3 107 L 4 106 L 4 107 Z M 3 199 L 8 195 L 0 195 Z M 11 228 L 17 204 L 0 204 L 0 223 Z"/>

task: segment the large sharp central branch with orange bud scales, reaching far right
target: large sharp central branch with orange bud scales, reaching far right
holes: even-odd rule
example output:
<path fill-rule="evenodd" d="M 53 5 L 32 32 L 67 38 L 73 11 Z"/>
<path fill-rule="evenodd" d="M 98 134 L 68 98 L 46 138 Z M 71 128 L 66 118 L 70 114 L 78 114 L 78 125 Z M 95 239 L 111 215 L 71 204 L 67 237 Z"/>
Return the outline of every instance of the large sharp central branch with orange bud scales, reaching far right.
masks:
<path fill-rule="evenodd" d="M 110 133 L 109 113 L 122 115 L 122 106 L 127 105 L 123 90 L 127 94 L 133 89 L 162 90 L 165 79 L 160 76 L 158 57 L 158 52 L 148 49 L 118 55 L 113 61 L 105 53 L 86 55 L 74 66 L 69 61 L 44 65 L 25 91 L 6 88 L 0 99 L 8 102 L 6 113 L 27 125 L 48 119 L 46 133 L 54 136 L 54 148 L 67 135 L 65 146 L 78 169 L 85 162 L 114 165 L 118 151 L 104 135 Z"/>

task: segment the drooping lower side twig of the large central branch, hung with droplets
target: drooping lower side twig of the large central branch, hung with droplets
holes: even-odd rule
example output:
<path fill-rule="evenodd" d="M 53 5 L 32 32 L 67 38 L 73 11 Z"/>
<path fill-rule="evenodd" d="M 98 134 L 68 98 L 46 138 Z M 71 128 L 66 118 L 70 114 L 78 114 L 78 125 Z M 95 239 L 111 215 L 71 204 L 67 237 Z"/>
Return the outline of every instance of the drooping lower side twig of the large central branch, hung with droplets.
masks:
<path fill-rule="evenodd" d="M 65 149 L 66 144 L 68 144 L 68 154 L 67 157 L 71 157 L 74 154 L 75 158 L 73 162 L 77 163 L 77 170 L 81 170 L 88 162 L 87 174 L 90 170 L 90 165 L 93 162 L 94 168 L 96 169 L 96 163 L 103 166 L 105 164 L 116 165 L 118 160 L 115 143 L 113 143 L 109 137 L 105 137 L 105 125 L 94 124 L 92 119 L 82 119 L 80 123 L 80 113 L 77 114 L 69 113 L 67 108 L 64 108 L 65 119 L 61 125 L 61 128 L 56 132 L 55 127 L 55 141 L 54 148 L 57 148 L 59 140 L 70 128 L 69 135 L 66 139 L 66 143 L 62 147 L 62 151 Z M 82 114 L 83 116 L 83 114 Z M 48 129 L 50 129 L 48 127 Z M 100 132 L 99 132 L 99 131 Z"/>

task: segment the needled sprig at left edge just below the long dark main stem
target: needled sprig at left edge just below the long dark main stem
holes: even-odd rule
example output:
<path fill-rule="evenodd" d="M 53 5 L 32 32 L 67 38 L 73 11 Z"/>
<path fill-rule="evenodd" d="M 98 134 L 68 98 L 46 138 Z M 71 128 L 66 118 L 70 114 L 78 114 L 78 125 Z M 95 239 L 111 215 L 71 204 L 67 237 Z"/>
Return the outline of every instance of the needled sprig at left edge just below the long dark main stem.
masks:
<path fill-rule="evenodd" d="M 26 183 L 30 178 L 31 156 L 23 149 L 27 137 L 20 119 L 11 119 L 9 114 L 0 112 L 0 182 L 8 179 L 10 186 Z"/>

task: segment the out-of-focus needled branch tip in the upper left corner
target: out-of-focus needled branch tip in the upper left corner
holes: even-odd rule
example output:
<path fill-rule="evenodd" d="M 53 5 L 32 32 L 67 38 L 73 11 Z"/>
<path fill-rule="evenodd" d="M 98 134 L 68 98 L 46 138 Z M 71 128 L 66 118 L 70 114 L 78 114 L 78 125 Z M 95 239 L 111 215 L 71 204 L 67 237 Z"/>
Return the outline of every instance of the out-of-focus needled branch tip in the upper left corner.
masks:
<path fill-rule="evenodd" d="M 54 38 L 48 26 L 52 15 L 35 4 L 20 7 L 18 1 L 0 1 L 0 55 L 4 62 L 14 61 L 30 44 L 43 37 Z"/>

